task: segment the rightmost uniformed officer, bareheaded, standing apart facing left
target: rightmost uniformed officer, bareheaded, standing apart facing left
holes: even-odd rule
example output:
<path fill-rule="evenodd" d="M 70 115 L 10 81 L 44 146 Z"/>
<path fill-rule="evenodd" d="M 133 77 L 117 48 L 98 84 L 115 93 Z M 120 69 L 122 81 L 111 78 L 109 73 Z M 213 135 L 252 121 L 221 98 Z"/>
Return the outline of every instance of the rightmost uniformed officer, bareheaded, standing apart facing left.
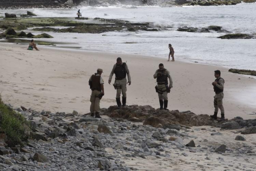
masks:
<path fill-rule="evenodd" d="M 223 121 L 225 120 L 225 116 L 224 116 L 224 107 L 222 104 L 222 99 L 223 99 L 223 89 L 224 89 L 224 79 L 221 77 L 221 71 L 216 70 L 214 71 L 214 76 L 215 76 L 215 81 L 212 82 L 213 85 L 213 89 L 215 92 L 215 96 L 214 96 L 214 115 L 211 115 L 212 118 L 217 119 L 217 113 L 218 113 L 218 108 L 221 110 L 221 119 L 219 119 L 218 121 Z"/>

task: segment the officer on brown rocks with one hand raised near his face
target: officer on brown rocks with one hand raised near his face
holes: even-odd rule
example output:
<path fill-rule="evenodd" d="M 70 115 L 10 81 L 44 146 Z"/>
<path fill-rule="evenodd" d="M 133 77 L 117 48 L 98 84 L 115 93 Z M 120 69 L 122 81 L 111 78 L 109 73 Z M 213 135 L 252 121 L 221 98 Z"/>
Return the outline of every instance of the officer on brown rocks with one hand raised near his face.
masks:
<path fill-rule="evenodd" d="M 168 78 L 170 80 L 170 84 L 168 86 Z M 156 70 L 154 74 L 154 79 L 157 81 L 156 91 L 159 97 L 160 110 L 168 110 L 168 97 L 167 93 L 170 92 L 172 88 L 172 78 L 170 76 L 170 72 L 163 67 L 163 64 L 159 64 L 159 69 Z"/>

